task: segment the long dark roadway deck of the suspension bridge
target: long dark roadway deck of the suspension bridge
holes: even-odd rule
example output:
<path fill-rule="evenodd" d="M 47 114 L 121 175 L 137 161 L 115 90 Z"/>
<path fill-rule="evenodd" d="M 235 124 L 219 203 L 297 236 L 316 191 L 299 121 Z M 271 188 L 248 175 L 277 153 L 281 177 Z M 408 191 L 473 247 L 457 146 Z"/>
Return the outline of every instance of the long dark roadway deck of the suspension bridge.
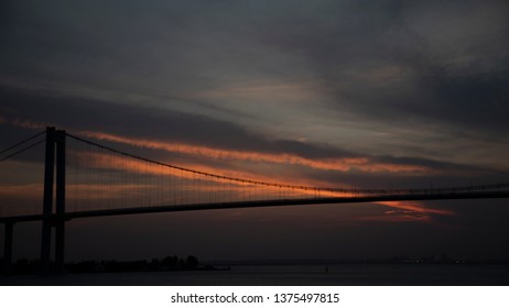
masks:
<path fill-rule="evenodd" d="M 470 191 L 470 193 L 447 193 L 447 194 L 405 194 L 405 195 L 370 195 L 356 197 L 326 197 L 326 198 L 304 198 L 304 199 L 277 199 L 277 200 L 253 200 L 237 202 L 216 202 L 216 204 L 188 204 L 177 206 L 155 206 L 141 208 L 123 209 L 101 209 L 90 211 L 71 211 L 64 215 L 53 215 L 53 220 L 72 220 L 77 218 L 141 215 L 172 211 L 196 211 L 215 209 L 239 209 L 239 208 L 264 208 L 281 206 L 304 206 L 304 205 L 331 205 L 331 204 L 359 204 L 359 202 L 381 202 L 381 201 L 418 201 L 418 200 L 453 200 L 453 199 L 491 199 L 509 198 L 509 191 Z M 15 223 L 22 221 L 42 220 L 42 215 L 13 216 L 0 218 L 0 223 Z"/>

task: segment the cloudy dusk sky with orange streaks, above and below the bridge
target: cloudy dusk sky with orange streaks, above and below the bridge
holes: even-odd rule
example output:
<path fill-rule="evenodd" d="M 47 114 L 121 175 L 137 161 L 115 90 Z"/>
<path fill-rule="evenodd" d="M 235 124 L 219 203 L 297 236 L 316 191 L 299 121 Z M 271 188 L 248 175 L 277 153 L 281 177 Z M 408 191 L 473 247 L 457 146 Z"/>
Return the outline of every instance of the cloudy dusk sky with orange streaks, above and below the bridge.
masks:
<path fill-rule="evenodd" d="M 55 125 L 169 164 L 292 185 L 509 183 L 508 15 L 501 0 L 2 1 L 0 148 Z M 34 157 L 6 163 L 3 204 L 39 189 Z M 73 220 L 66 256 L 509 258 L 507 206 Z M 39 229 L 17 224 L 14 257 L 39 255 Z"/>

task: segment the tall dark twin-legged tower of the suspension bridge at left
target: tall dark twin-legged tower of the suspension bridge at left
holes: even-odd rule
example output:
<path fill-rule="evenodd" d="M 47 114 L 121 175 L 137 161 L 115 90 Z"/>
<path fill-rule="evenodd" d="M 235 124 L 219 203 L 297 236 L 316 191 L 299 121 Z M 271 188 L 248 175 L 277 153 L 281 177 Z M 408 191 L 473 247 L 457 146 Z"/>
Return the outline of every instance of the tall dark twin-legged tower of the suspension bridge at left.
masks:
<path fill-rule="evenodd" d="M 44 163 L 41 265 L 42 272 L 46 274 L 51 271 L 52 228 L 55 228 L 55 273 L 62 273 L 65 243 L 65 131 L 55 130 L 53 127 L 46 128 Z"/>

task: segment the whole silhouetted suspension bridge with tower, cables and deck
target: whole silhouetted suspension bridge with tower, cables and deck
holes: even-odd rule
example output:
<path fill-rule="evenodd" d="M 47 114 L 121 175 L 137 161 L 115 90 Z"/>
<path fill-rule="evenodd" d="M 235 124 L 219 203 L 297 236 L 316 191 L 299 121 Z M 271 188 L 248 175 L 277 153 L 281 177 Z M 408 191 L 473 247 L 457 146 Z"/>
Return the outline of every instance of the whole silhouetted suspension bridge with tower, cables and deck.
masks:
<path fill-rule="evenodd" d="M 45 157 L 42 164 L 30 153 L 40 151 L 43 145 Z M 22 155 L 23 160 L 20 160 Z M 54 270 L 62 273 L 65 222 L 72 219 L 231 208 L 509 197 L 509 184 L 434 189 L 353 189 L 254 180 L 242 175 L 220 175 L 205 166 L 183 167 L 143 157 L 55 128 L 46 128 L 1 151 L 0 164 L 9 163 L 2 169 L 12 173 L 9 176 L 14 182 L 17 167 L 32 168 L 43 178 L 41 183 L 0 191 L 12 196 L 0 204 L 7 273 L 12 260 L 13 227 L 25 221 L 42 221 L 42 271 L 51 268 L 54 238 Z"/>

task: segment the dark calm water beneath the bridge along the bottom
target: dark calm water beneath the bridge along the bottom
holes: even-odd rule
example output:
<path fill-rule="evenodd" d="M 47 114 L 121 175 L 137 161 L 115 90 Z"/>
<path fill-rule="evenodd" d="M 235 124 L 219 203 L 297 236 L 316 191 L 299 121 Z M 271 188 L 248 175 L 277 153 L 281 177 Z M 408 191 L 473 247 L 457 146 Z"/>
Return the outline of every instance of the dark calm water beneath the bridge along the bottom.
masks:
<path fill-rule="evenodd" d="M 230 271 L 0 277 L 0 285 L 509 285 L 509 265 L 235 265 Z"/>

